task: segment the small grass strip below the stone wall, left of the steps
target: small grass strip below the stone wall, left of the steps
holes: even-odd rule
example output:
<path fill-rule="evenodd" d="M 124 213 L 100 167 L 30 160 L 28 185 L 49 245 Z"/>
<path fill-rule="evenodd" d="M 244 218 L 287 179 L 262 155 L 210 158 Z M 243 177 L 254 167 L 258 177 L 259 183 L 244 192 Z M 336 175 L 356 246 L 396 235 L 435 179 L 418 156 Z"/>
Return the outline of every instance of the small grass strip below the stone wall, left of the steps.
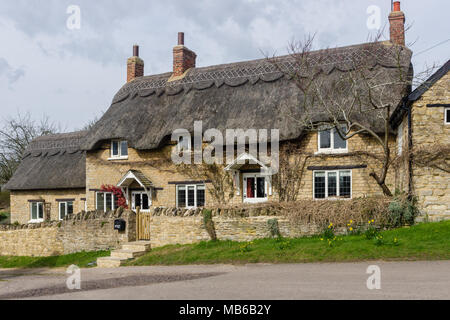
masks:
<path fill-rule="evenodd" d="M 109 256 L 110 251 L 79 252 L 54 257 L 10 257 L 0 256 L 0 268 L 58 268 L 68 267 L 72 264 L 80 267 L 89 267 L 99 257 Z"/>

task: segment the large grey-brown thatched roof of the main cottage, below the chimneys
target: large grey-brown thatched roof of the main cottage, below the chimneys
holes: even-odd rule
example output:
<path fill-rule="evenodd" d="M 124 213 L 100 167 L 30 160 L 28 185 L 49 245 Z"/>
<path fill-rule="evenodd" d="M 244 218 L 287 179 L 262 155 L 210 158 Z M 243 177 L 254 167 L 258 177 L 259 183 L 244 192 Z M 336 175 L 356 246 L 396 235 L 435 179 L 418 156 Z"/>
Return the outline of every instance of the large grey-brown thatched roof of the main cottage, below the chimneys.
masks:
<path fill-rule="evenodd" d="M 333 79 L 351 69 L 349 58 L 370 61 L 371 72 L 381 78 L 398 74 L 398 63 L 405 73 L 411 66 L 411 51 L 405 47 L 379 43 L 376 52 L 364 52 L 363 45 L 327 50 L 326 61 L 317 70 Z M 319 55 L 322 51 L 313 54 Z M 399 53 L 397 60 L 397 53 Z M 291 56 L 278 58 L 283 69 L 295 68 Z M 304 127 L 286 110 L 300 106 L 303 99 L 288 72 L 267 59 L 194 68 L 181 80 L 168 82 L 172 73 L 145 76 L 125 84 L 115 95 L 109 110 L 86 136 L 84 150 L 99 147 L 102 141 L 123 138 L 131 147 L 148 150 L 166 143 L 175 129 L 193 131 L 194 121 L 203 121 L 203 130 L 279 129 L 280 139 L 299 137 Z M 394 106 L 407 93 L 402 85 L 389 90 Z M 293 116 L 292 116 L 293 115 Z M 318 120 L 323 116 L 318 110 Z M 380 132 L 375 117 L 361 121 Z"/>

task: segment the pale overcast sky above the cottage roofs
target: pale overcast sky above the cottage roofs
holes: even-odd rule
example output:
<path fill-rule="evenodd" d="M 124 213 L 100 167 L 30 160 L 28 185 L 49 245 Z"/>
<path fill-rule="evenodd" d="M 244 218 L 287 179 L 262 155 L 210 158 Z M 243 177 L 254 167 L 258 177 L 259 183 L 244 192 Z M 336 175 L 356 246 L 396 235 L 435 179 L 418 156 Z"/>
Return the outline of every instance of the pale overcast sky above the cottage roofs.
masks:
<path fill-rule="evenodd" d="M 390 0 L 42 0 L 0 2 L 1 117 L 47 114 L 66 130 L 101 115 L 126 81 L 126 60 L 140 45 L 145 74 L 171 71 L 177 32 L 197 66 L 285 54 L 287 44 L 316 33 L 316 48 L 365 42 L 367 8 L 381 9 L 388 37 Z M 67 8 L 81 28 L 67 28 Z M 450 1 L 403 0 L 416 70 L 449 59 Z"/>

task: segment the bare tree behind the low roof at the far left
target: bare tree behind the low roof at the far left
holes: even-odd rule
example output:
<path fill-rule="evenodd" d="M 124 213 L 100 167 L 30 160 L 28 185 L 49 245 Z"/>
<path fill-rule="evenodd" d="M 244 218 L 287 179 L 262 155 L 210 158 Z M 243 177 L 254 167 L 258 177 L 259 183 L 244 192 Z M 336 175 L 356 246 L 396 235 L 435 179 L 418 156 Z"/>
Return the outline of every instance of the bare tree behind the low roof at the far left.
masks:
<path fill-rule="evenodd" d="M 5 118 L 0 127 L 0 183 L 11 179 L 31 140 L 59 131 L 61 128 L 45 115 L 39 121 L 30 113 Z"/>

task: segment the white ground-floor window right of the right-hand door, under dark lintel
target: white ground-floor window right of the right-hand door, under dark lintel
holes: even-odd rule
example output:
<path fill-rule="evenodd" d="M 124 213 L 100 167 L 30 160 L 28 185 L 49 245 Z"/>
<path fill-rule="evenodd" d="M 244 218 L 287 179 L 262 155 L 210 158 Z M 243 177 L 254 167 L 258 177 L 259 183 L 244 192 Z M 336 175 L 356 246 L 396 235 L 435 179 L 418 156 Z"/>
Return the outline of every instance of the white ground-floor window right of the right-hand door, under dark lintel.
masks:
<path fill-rule="evenodd" d="M 314 199 L 351 198 L 352 174 L 350 170 L 315 171 Z"/>

